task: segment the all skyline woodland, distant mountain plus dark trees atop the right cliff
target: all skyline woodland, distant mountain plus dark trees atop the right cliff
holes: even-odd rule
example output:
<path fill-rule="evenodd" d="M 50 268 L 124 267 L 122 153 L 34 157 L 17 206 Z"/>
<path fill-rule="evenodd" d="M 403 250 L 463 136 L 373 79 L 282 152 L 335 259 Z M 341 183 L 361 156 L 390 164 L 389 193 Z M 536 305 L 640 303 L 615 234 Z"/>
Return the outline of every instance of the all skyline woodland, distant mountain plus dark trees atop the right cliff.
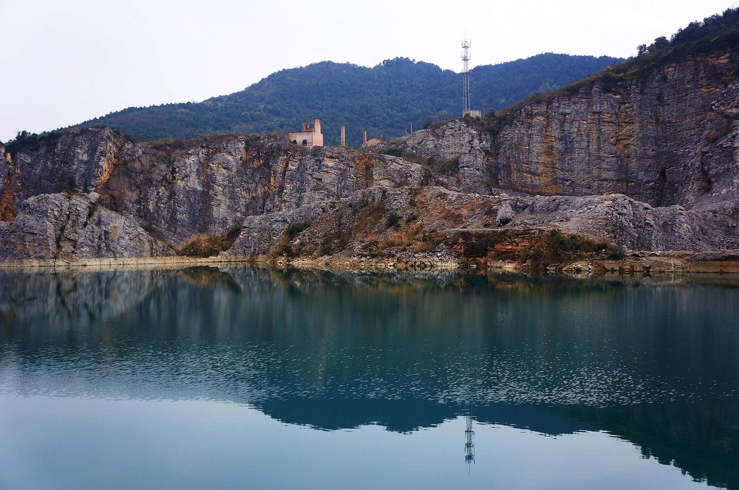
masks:
<path fill-rule="evenodd" d="M 471 101 L 474 108 L 487 110 L 480 122 L 497 135 L 511 115 L 491 109 L 508 106 L 510 111 L 576 93 L 599 81 L 606 90 L 623 81 L 644 84 L 650 74 L 667 64 L 736 47 L 739 9 L 728 9 L 690 23 L 670 39 L 660 37 L 648 46 L 638 46 L 637 56 L 619 64 L 618 58 L 607 56 L 544 53 L 476 67 L 471 73 Z M 132 140 L 191 139 L 226 132 L 287 133 L 299 129 L 304 120 L 319 118 L 327 144 L 338 144 L 338 127 L 344 124 L 347 143 L 357 146 L 363 129 L 372 136 L 397 137 L 411 124 L 419 129 L 434 120 L 460 115 L 461 89 L 459 74 L 408 58 L 386 60 L 372 68 L 324 61 L 283 69 L 241 92 L 201 103 L 131 107 L 68 129 L 102 124 L 130 133 L 126 137 Z M 13 153 L 33 148 L 61 134 L 19 132 L 6 149 Z"/>

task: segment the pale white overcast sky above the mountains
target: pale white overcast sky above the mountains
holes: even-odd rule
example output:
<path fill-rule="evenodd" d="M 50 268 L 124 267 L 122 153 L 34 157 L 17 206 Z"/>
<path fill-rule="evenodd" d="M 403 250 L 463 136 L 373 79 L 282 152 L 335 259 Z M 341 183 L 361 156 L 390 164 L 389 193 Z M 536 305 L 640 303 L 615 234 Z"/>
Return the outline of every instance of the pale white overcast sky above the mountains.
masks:
<path fill-rule="evenodd" d="M 0 0 L 0 140 L 202 101 L 316 61 L 460 70 L 540 52 L 636 54 L 736 0 Z"/>

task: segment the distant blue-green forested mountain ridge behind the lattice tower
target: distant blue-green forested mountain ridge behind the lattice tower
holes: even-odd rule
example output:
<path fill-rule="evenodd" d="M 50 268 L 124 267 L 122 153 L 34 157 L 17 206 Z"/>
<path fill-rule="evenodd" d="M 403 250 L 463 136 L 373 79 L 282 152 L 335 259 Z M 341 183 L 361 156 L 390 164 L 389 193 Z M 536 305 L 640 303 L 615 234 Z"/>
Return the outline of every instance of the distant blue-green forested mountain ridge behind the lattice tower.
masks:
<path fill-rule="evenodd" d="M 543 53 L 471 72 L 474 108 L 498 109 L 535 92 L 548 92 L 619 63 L 610 56 Z M 347 143 L 361 132 L 383 138 L 418 129 L 426 120 L 460 115 L 462 79 L 435 64 L 395 58 L 375 67 L 322 61 L 283 69 L 241 92 L 200 103 L 130 107 L 81 123 L 107 124 L 138 140 L 192 138 L 214 132 L 287 133 L 311 118 L 321 119 L 326 144 L 336 145 L 347 126 Z"/>

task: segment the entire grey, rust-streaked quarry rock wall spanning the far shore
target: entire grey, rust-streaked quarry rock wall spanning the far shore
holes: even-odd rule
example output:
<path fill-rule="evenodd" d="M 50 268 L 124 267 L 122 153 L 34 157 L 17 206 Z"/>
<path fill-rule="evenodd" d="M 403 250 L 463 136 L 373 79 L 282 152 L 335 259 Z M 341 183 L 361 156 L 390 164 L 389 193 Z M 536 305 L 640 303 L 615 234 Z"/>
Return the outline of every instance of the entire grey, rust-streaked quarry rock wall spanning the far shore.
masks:
<path fill-rule="evenodd" d="M 171 245 L 242 225 L 224 253 L 264 253 L 302 221 L 319 227 L 304 232 L 320 238 L 305 251 L 344 253 L 352 234 L 400 240 L 390 237 L 391 211 L 438 232 L 556 227 L 629 249 L 738 248 L 737 73 L 739 55 L 688 58 L 644 83 L 543 98 L 511 114 L 495 138 L 457 119 L 374 148 L 399 147 L 418 163 L 373 149 L 304 148 L 283 135 L 177 147 L 86 129 L 17 154 L 0 146 L 0 258 L 171 253 L 143 225 Z M 101 194 L 98 228 L 83 216 L 80 194 L 89 191 Z M 405 201 L 388 201 L 395 197 Z M 128 237 L 120 247 L 104 232 L 117 227 L 126 231 L 116 237 Z"/>

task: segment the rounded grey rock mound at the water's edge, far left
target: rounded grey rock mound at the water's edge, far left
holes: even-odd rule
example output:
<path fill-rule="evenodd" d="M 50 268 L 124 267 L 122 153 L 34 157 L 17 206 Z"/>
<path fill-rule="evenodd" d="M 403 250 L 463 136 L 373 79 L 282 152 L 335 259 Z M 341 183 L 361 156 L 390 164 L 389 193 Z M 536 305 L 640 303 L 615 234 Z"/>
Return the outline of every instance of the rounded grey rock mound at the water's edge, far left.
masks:
<path fill-rule="evenodd" d="M 0 222 L 0 257 L 89 259 L 171 256 L 174 251 L 140 226 L 77 194 L 40 194 Z"/>

